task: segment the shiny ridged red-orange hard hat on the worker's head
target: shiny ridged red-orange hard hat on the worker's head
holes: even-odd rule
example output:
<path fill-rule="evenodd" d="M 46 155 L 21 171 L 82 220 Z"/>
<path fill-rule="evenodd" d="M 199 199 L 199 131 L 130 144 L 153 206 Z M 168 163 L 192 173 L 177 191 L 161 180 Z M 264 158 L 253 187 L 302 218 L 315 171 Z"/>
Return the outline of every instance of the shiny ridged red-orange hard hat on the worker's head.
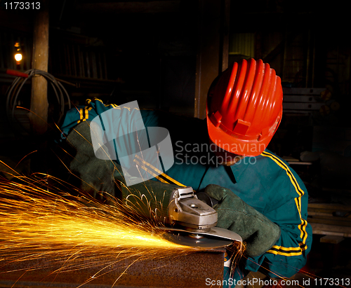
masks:
<path fill-rule="evenodd" d="M 234 62 L 208 91 L 208 135 L 225 151 L 258 156 L 282 120 L 282 102 L 281 80 L 269 64 Z"/>

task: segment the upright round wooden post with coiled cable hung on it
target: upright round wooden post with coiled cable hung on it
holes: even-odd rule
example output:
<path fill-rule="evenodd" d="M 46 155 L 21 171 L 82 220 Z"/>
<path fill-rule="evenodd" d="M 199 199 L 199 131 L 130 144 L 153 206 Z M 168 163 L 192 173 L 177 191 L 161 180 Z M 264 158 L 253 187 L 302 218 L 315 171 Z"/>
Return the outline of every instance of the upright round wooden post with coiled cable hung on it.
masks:
<path fill-rule="evenodd" d="M 48 71 L 48 0 L 41 1 L 41 9 L 34 18 L 32 68 Z M 41 135 L 48 128 L 47 82 L 44 76 L 32 78 L 32 97 L 29 121 L 32 132 Z"/>

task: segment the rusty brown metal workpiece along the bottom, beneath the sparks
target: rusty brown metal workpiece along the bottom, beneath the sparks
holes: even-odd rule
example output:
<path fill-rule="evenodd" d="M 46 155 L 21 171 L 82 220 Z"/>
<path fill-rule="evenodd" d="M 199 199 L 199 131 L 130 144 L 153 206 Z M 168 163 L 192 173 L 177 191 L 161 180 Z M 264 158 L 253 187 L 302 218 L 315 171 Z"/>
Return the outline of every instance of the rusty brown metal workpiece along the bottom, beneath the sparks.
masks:
<path fill-rule="evenodd" d="M 65 265 L 56 263 L 55 259 L 18 261 L 8 265 L 0 261 L 0 287 L 203 288 L 206 279 L 223 279 L 225 248 L 182 253 L 163 256 L 160 251 L 157 256 L 144 260 L 140 260 L 140 256 L 124 260 L 107 257 L 93 262 L 88 256 L 86 259 L 67 259 L 72 266 L 84 267 L 67 271 L 62 270 Z"/>

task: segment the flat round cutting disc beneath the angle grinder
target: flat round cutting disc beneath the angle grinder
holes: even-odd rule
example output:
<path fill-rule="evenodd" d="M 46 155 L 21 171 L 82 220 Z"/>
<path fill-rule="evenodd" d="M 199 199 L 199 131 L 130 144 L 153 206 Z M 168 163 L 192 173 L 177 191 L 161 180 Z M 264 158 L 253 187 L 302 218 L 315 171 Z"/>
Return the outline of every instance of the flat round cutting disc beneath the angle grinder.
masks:
<path fill-rule="evenodd" d="M 183 246 L 199 248 L 218 248 L 232 244 L 233 240 L 187 231 L 167 231 L 162 238 Z"/>

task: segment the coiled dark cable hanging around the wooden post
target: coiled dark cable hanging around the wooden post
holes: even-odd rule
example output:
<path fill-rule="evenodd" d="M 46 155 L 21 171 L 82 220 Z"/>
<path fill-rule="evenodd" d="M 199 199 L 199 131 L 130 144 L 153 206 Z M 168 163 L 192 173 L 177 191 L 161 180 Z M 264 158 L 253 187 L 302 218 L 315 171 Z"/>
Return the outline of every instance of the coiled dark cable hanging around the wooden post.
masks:
<path fill-rule="evenodd" d="M 63 85 L 58 81 L 53 75 L 49 74 L 46 71 L 38 70 L 38 69 L 29 69 L 25 71 L 25 74 L 28 74 L 27 78 L 17 77 L 8 88 L 6 92 L 6 115 L 8 121 L 13 124 L 15 122 L 15 108 L 16 103 L 18 101 L 18 95 L 20 95 L 20 91 L 23 88 L 23 85 L 34 76 L 44 76 L 46 81 L 51 84 L 53 91 L 55 93 L 56 100 L 58 100 L 59 106 L 59 114 L 58 119 L 53 119 L 55 123 L 58 125 L 62 121 L 62 117 L 65 116 L 65 97 L 67 98 L 67 106 L 68 109 L 71 109 L 71 101 L 69 99 L 69 95 L 67 90 L 63 87 Z"/>

